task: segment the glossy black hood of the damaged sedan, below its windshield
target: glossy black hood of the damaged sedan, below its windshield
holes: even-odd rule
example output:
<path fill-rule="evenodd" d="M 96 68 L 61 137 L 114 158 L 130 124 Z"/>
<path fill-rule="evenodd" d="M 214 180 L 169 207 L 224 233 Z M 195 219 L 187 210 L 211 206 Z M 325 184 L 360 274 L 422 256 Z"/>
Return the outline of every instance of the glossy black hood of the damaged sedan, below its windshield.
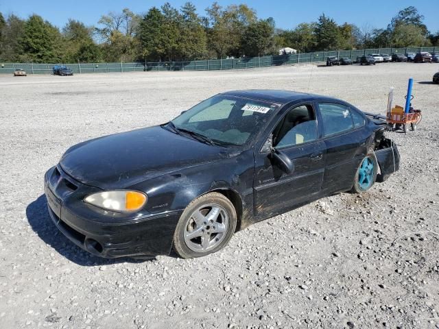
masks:
<path fill-rule="evenodd" d="M 227 156 L 223 147 L 155 126 L 75 145 L 62 156 L 60 166 L 83 184 L 110 190 Z"/>

